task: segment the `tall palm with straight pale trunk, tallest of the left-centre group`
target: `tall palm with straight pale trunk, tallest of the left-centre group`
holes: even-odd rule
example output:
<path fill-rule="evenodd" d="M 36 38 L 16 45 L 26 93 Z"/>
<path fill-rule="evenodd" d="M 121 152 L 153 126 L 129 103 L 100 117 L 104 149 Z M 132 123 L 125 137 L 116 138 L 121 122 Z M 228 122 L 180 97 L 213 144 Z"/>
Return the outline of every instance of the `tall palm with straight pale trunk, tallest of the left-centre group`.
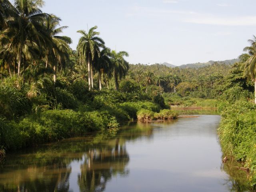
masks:
<path fill-rule="evenodd" d="M 80 62 L 87 62 L 88 67 L 88 83 L 89 89 L 93 88 L 93 76 L 92 76 L 92 61 L 96 54 L 100 54 L 100 48 L 104 48 L 104 40 L 98 37 L 100 32 L 96 32 L 97 26 L 94 26 L 88 30 L 88 33 L 84 30 L 77 31 L 82 34 L 82 37 L 79 39 L 77 52 L 80 58 Z"/>

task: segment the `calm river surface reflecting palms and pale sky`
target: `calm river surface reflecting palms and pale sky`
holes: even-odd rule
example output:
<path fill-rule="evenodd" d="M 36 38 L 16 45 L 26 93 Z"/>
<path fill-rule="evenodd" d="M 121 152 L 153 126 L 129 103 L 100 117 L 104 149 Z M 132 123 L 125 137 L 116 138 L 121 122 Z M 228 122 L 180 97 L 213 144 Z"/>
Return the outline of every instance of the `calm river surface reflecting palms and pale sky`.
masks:
<path fill-rule="evenodd" d="M 9 154 L 0 191 L 226 192 L 218 115 L 123 127 Z M 239 191 L 239 190 L 234 190 Z M 241 190 L 244 191 L 244 190 Z"/>

